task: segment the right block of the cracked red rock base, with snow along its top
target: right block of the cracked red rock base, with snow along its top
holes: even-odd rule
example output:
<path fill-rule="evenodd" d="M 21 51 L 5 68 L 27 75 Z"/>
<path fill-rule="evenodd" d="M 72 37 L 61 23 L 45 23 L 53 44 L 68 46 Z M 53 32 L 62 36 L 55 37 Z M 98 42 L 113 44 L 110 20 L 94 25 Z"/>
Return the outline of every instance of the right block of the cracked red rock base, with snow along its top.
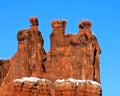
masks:
<path fill-rule="evenodd" d="M 73 80 L 54 82 L 55 96 L 101 96 L 101 87 L 97 82 Z"/>

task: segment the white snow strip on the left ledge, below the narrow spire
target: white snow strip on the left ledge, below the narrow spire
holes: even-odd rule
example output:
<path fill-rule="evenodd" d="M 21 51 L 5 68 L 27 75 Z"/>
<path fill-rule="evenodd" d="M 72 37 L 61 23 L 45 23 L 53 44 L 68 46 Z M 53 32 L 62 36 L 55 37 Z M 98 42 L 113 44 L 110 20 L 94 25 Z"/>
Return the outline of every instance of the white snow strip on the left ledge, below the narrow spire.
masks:
<path fill-rule="evenodd" d="M 23 77 L 22 79 L 15 79 L 14 82 L 24 82 L 24 81 L 37 82 L 39 80 L 48 81 L 47 79 L 40 79 L 37 77 Z"/>

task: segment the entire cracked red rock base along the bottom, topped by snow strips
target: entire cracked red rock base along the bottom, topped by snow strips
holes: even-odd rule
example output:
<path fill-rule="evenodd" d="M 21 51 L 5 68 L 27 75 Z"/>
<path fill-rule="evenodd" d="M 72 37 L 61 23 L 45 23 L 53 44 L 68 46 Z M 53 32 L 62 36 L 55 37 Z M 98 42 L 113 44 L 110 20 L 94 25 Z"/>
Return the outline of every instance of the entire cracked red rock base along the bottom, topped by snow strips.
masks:
<path fill-rule="evenodd" d="M 101 96 L 99 83 L 91 80 L 62 79 L 54 82 L 36 78 L 16 79 L 2 96 Z M 4 88 L 5 89 L 5 88 Z M 9 89 L 9 90 L 8 90 Z M 5 93 L 4 93 L 5 92 Z"/>

